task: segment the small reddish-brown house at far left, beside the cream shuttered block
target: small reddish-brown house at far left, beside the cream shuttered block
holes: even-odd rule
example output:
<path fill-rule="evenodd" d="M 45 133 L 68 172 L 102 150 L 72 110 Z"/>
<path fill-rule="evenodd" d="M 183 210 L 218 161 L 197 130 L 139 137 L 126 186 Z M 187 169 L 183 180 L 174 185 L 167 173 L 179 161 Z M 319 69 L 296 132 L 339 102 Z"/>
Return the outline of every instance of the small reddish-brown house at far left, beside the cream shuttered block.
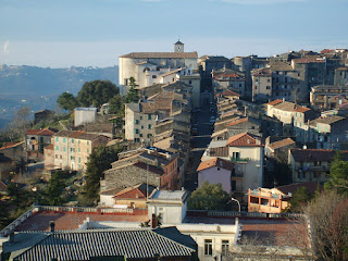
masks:
<path fill-rule="evenodd" d="M 28 129 L 25 133 L 26 158 L 28 162 L 44 160 L 44 148 L 51 144 L 51 137 L 58 130 L 53 128 Z"/>

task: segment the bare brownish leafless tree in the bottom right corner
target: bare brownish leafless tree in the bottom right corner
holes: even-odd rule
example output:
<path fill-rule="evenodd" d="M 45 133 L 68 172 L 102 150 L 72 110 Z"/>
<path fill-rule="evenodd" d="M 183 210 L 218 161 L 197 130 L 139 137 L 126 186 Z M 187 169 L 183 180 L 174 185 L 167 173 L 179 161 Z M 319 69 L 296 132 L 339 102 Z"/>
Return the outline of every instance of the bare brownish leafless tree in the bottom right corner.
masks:
<path fill-rule="evenodd" d="M 348 199 L 336 190 L 323 192 L 304 209 L 320 260 L 348 260 Z"/>

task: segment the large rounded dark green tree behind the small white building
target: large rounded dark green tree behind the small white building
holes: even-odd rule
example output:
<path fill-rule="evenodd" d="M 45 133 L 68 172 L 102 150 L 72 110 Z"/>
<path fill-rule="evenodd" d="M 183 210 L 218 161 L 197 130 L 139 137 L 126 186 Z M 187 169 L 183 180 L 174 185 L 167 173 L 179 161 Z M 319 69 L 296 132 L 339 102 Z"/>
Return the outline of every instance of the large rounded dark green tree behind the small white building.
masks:
<path fill-rule="evenodd" d="M 83 107 L 94 105 L 99 108 L 112 97 L 119 95 L 120 89 L 110 80 L 86 82 L 77 95 L 77 100 Z"/>

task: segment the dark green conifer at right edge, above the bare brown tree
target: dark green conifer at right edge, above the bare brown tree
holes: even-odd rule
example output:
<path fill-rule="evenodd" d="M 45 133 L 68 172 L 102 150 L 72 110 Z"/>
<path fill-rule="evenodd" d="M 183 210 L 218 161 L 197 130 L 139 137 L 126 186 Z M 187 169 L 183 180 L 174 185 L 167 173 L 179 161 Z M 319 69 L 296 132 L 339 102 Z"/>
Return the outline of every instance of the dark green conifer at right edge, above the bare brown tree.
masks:
<path fill-rule="evenodd" d="M 340 154 L 336 154 L 328 176 L 330 179 L 324 185 L 325 189 L 337 189 L 338 192 L 348 196 L 348 161 L 341 160 Z"/>

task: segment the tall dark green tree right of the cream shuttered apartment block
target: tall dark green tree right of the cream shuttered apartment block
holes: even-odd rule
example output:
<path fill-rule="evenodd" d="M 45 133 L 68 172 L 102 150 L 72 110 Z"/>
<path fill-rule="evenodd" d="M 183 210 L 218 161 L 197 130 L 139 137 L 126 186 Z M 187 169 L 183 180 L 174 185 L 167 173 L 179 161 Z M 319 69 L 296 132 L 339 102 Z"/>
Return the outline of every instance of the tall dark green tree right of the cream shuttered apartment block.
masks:
<path fill-rule="evenodd" d="M 121 147 L 98 147 L 89 157 L 86 170 L 85 202 L 92 203 L 98 199 L 100 179 L 104 178 L 104 171 L 111 167 L 111 163 L 119 159 Z"/>

